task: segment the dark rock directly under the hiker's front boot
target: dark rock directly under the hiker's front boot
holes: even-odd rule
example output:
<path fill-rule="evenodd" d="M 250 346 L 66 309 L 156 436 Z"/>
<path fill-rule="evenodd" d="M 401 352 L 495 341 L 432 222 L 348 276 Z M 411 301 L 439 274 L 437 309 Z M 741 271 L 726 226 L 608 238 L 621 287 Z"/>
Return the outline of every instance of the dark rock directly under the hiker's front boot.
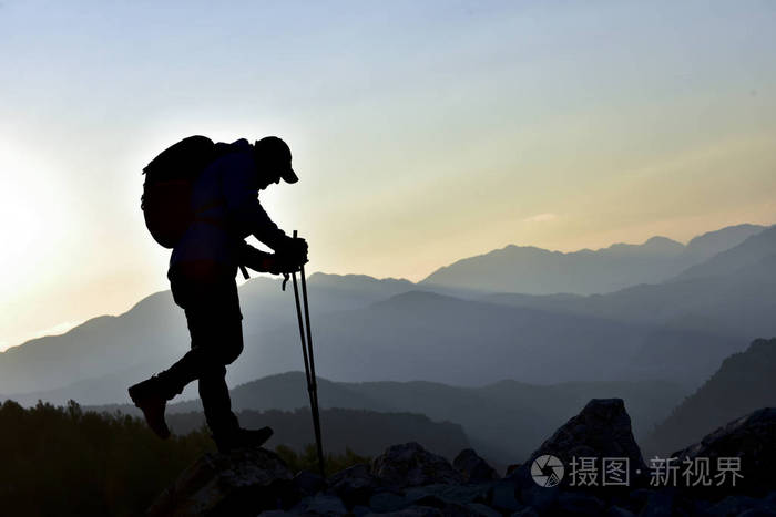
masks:
<path fill-rule="evenodd" d="M 257 515 L 298 498 L 292 472 L 264 448 L 205 454 L 149 508 L 150 516 Z"/>

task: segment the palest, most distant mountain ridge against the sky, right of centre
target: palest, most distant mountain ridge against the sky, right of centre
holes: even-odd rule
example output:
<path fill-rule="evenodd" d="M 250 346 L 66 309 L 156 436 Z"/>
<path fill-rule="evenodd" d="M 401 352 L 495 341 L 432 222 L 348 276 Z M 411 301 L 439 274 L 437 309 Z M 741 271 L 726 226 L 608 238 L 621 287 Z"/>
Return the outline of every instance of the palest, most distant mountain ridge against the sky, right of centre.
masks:
<path fill-rule="evenodd" d="M 665 237 L 568 254 L 510 245 L 440 268 L 419 285 L 528 294 L 612 292 L 666 280 L 764 228 L 732 226 L 698 236 L 687 246 Z"/>

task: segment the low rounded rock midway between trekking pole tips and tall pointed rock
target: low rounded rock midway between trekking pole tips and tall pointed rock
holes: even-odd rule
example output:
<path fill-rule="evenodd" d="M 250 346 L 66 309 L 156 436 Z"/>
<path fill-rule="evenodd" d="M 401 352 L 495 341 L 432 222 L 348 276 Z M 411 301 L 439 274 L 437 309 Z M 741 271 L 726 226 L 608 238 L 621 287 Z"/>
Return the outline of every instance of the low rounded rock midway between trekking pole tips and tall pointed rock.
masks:
<path fill-rule="evenodd" d="M 463 476 L 447 459 L 416 442 L 388 447 L 372 459 L 371 474 L 397 487 L 463 482 Z"/>

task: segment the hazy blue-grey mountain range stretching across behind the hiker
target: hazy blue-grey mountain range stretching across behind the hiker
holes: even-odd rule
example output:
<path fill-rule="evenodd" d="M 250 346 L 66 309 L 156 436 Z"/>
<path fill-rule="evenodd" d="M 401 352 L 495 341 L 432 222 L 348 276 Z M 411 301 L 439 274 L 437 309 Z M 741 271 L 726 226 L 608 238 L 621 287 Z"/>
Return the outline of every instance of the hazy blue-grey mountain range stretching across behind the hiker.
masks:
<path fill-rule="evenodd" d="M 588 270 L 575 267 L 569 271 L 579 277 L 569 272 L 573 278 L 558 289 L 564 294 L 545 296 L 504 292 L 506 272 L 499 292 L 487 282 L 439 283 L 437 273 L 419 283 L 316 273 L 308 287 L 317 371 L 349 382 L 482 386 L 510 379 L 630 379 L 696 387 L 743 343 L 776 335 L 775 250 L 776 228 L 742 225 L 687 246 L 656 238 L 566 254 L 584 259 L 579 263 L 596 259 L 602 270 L 629 257 L 633 265 L 650 257 L 665 265 L 668 256 L 674 265 L 690 265 L 662 282 L 590 296 L 569 293 L 586 281 Z M 468 267 L 490 267 L 488 257 L 469 259 Z M 698 262 L 690 263 L 691 257 Z M 513 277 L 522 278 L 528 262 L 510 263 Z M 548 268 L 534 267 L 538 277 L 550 275 Z M 241 288 L 241 299 L 246 347 L 229 368 L 229 383 L 297 370 L 302 351 L 292 294 L 277 280 L 256 278 Z M 0 353 L 0 393 L 25 403 L 124 402 L 127 385 L 166 368 L 187 347 L 182 311 L 164 291 L 119 317 L 95 318 Z M 195 396 L 193 389 L 185 394 Z"/>

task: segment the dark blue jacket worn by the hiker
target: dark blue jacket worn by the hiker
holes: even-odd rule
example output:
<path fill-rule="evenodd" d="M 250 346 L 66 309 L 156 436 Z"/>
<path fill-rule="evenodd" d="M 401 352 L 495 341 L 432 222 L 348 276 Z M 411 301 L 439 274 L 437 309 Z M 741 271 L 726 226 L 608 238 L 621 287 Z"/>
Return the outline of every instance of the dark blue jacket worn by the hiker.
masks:
<path fill-rule="evenodd" d="M 246 139 L 231 145 L 235 152 L 208 165 L 193 185 L 196 217 L 173 249 L 171 273 L 215 269 L 234 278 L 246 237 L 253 235 L 272 249 L 290 239 L 258 203 L 253 147 Z"/>

